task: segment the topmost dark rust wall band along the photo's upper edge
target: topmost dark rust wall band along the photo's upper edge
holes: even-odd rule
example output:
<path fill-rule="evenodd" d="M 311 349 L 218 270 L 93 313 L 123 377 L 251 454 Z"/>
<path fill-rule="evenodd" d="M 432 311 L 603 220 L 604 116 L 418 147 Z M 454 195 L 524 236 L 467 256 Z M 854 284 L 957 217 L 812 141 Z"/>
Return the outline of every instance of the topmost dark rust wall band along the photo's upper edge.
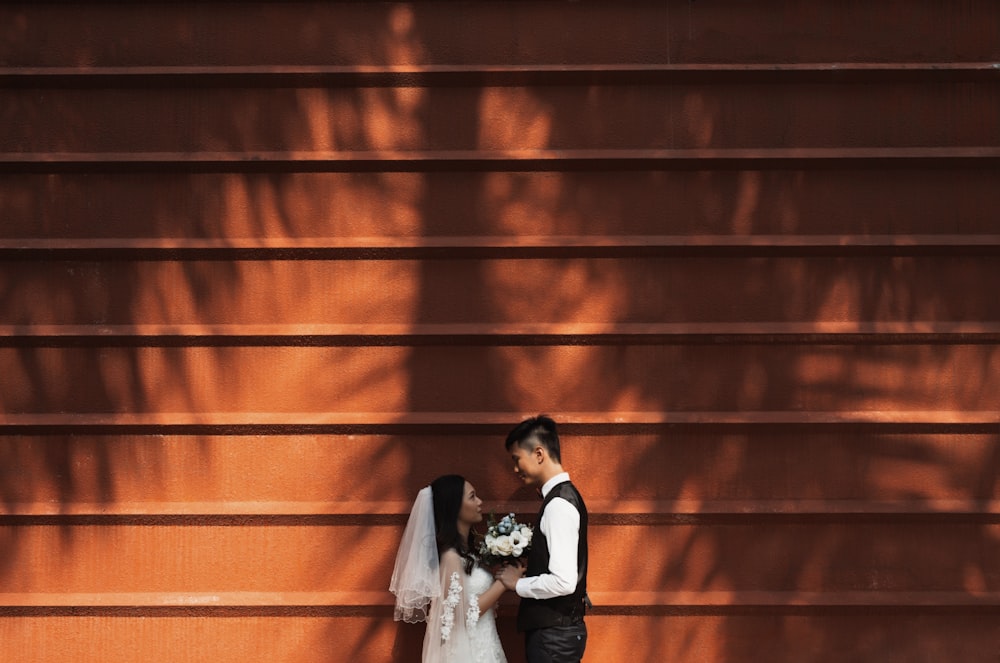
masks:
<path fill-rule="evenodd" d="M 33 4 L 4 6 L 7 64 L 990 62 L 1000 42 L 991 0 Z"/>

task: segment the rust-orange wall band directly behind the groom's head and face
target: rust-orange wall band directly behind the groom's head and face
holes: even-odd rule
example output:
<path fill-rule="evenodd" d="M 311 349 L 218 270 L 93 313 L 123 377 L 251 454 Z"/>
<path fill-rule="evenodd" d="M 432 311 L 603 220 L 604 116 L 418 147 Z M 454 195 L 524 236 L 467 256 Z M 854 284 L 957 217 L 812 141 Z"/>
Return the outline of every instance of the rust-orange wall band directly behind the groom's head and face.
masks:
<path fill-rule="evenodd" d="M 700 413 L 691 420 L 718 422 L 721 414 Z M 900 412 L 901 423 L 871 417 L 875 423 L 866 426 L 856 417 L 837 427 L 821 417 L 812 417 L 810 424 L 809 415 L 795 414 L 775 413 L 769 424 L 731 423 L 730 430 L 707 432 L 697 423 L 674 423 L 669 435 L 614 432 L 607 426 L 605 434 L 570 436 L 567 454 L 588 468 L 581 484 L 588 500 L 602 505 L 609 518 L 636 518 L 642 509 L 710 515 L 712 505 L 726 513 L 726 505 L 751 510 L 754 504 L 777 513 L 818 507 L 851 512 L 855 505 L 874 509 L 878 504 L 890 513 L 921 507 L 933 512 L 947 511 L 949 505 L 974 509 L 996 500 L 992 458 L 997 440 L 991 430 L 1000 423 L 996 415 L 992 421 L 972 416 L 963 421 L 943 412 Z M 38 419 L 44 425 L 52 417 Z M 366 420 L 378 419 L 369 413 Z M 902 430 L 911 422 L 988 432 Z M 793 427 L 798 430 L 784 430 Z M 411 484 L 437 471 L 440 454 L 452 459 L 450 467 L 476 477 L 477 488 L 490 498 L 488 508 L 532 504 L 532 496 L 510 482 L 495 442 L 493 435 L 446 430 L 336 436 L 9 435 L 0 438 L 6 461 L 0 468 L 2 498 L 9 511 L 29 515 L 142 515 L 144 504 L 155 503 L 167 514 L 315 510 L 363 519 L 385 513 L 384 524 L 400 525 L 410 506 Z M 605 458 L 608 446 L 619 448 L 614 462 Z M 278 464 L 275 448 L 282 451 Z M 378 462 L 363 473 L 352 472 L 365 453 Z M 60 480 L 65 468 L 74 468 L 72 490 Z M 913 496 L 919 497 L 915 503 L 909 501 Z"/>

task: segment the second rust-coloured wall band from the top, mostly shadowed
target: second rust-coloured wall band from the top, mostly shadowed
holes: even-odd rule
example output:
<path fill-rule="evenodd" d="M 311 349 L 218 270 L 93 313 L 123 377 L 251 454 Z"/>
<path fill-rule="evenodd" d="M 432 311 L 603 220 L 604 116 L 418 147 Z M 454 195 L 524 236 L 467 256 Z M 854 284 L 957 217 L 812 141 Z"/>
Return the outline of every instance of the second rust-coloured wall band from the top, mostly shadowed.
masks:
<path fill-rule="evenodd" d="M 980 121 L 1000 115 L 1000 90 L 991 78 L 388 91 L 140 87 L 27 99 L 12 89 L 0 92 L 0 107 L 33 121 L 28 131 L 0 141 L 0 152 L 997 145 L 1000 127 Z M 816 122 L 823 114 L 837 121 Z M 190 119 L 164 121 L 175 117 Z"/>

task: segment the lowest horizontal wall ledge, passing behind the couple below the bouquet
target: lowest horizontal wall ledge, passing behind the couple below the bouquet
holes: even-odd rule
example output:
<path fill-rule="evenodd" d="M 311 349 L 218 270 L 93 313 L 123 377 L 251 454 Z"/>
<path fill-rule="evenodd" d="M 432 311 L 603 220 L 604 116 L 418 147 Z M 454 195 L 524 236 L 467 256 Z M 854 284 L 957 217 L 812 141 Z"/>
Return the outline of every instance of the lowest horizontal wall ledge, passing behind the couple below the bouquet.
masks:
<path fill-rule="evenodd" d="M 594 615 L 684 613 L 696 610 L 937 609 L 1000 610 L 1000 592 L 990 591 L 633 591 L 590 592 Z M 11 614 L 114 615 L 129 609 L 149 612 L 226 614 L 283 609 L 304 614 L 391 615 L 388 591 L 357 592 L 135 592 L 0 593 L 0 616 Z M 514 599 L 510 599 L 514 601 Z"/>

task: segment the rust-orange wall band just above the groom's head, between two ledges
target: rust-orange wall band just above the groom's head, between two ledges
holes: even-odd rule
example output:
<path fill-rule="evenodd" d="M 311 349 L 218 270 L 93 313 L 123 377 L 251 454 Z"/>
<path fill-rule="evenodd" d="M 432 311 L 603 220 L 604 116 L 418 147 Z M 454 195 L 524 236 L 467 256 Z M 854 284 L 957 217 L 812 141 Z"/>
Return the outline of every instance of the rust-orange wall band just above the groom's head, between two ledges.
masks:
<path fill-rule="evenodd" d="M 11 413 L 989 410 L 1000 397 L 990 344 L 0 348 L 0 370 Z"/>

